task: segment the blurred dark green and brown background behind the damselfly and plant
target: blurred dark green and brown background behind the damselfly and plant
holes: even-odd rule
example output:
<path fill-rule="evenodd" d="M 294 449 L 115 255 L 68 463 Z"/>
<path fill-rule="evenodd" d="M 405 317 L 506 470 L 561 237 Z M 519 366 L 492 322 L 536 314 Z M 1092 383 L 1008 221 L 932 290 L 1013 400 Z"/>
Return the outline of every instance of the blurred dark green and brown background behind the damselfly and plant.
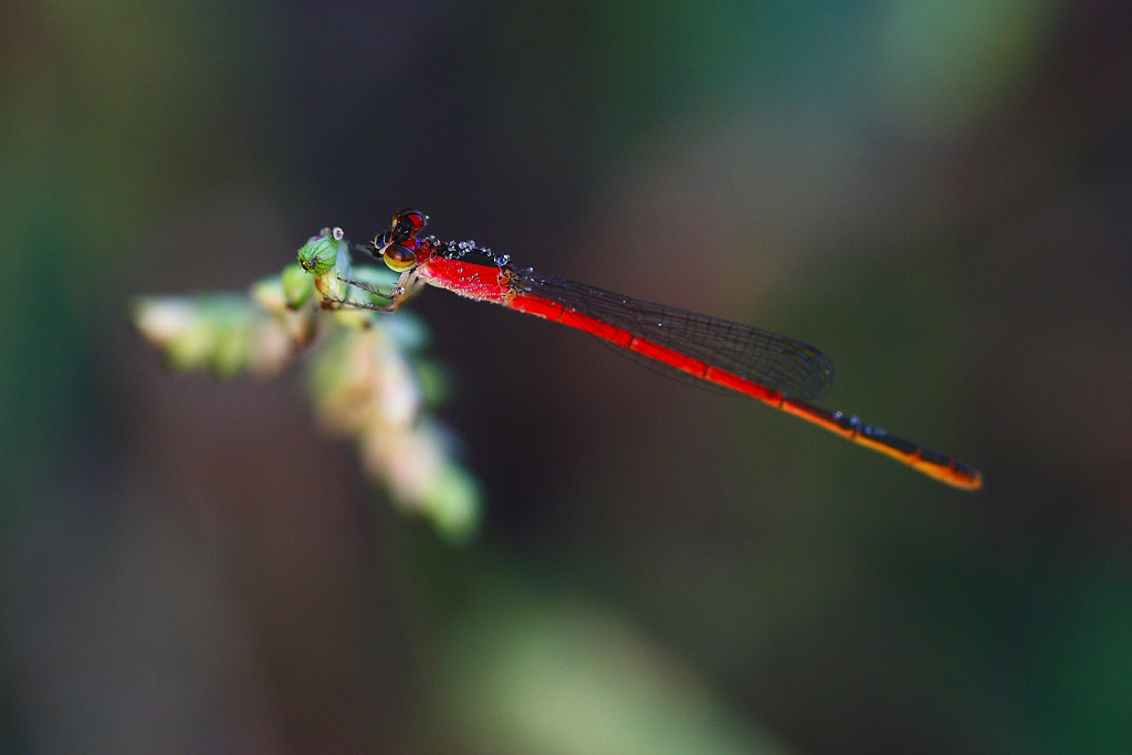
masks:
<path fill-rule="evenodd" d="M 1132 750 L 1125 2 L 0 6 L 0 749 Z M 139 293 L 318 229 L 795 335 L 964 495 L 428 292 L 444 543 Z"/>

